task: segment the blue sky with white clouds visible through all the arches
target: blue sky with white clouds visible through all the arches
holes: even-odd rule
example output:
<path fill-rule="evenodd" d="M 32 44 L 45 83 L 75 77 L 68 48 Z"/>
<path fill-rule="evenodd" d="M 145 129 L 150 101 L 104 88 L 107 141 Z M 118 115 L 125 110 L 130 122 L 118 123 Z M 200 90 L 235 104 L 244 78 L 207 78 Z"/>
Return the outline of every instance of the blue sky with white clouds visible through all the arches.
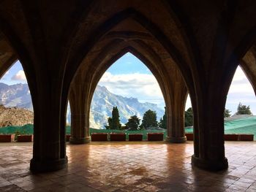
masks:
<path fill-rule="evenodd" d="M 26 76 L 19 61 L 4 74 L 0 82 L 7 85 L 26 83 Z M 151 102 L 165 107 L 165 101 L 156 78 L 151 71 L 132 53 L 127 53 L 119 58 L 103 74 L 99 85 L 105 86 L 117 95 L 134 97 L 140 102 Z M 256 115 L 256 97 L 252 85 L 247 80 L 244 72 L 238 66 L 230 90 L 227 94 L 226 108 L 233 115 L 236 113 L 239 102 L 249 105 Z M 191 107 L 188 97 L 186 109 Z"/>

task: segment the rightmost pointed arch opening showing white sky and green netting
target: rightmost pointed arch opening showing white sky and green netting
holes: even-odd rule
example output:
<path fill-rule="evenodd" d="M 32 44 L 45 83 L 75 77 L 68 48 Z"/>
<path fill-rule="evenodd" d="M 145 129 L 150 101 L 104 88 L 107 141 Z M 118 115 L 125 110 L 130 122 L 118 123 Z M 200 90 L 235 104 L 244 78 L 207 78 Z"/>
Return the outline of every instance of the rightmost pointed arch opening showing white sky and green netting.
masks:
<path fill-rule="evenodd" d="M 225 134 L 254 134 L 256 120 L 255 91 L 243 66 L 234 74 L 225 105 Z M 230 117 L 227 117 L 230 116 Z"/>

